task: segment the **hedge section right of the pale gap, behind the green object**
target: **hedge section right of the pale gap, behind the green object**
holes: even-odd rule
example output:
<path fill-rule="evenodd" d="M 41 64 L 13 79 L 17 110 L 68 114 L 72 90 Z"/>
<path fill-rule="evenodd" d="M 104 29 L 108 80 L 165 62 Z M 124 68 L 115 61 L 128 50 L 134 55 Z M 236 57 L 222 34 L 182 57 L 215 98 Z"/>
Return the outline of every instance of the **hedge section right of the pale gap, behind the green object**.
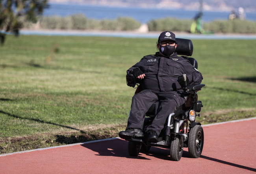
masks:
<path fill-rule="evenodd" d="M 148 22 L 149 31 L 190 31 L 193 20 L 161 18 Z M 256 33 L 256 22 L 249 20 L 214 20 L 204 22 L 205 31 L 214 33 Z"/>

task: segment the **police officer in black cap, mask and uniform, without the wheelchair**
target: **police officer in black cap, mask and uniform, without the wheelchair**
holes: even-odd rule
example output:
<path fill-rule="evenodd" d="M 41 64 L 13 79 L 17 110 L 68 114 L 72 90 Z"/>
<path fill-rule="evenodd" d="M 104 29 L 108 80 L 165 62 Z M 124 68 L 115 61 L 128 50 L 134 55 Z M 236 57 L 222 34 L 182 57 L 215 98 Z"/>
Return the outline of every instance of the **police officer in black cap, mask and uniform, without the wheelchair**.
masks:
<path fill-rule="evenodd" d="M 145 113 L 150 106 L 159 101 L 156 115 L 150 126 L 147 127 L 148 141 L 158 142 L 158 136 L 164 127 L 169 114 L 186 102 L 186 95 L 182 86 L 200 84 L 202 74 L 184 57 L 178 57 L 174 33 L 164 31 L 158 38 L 155 55 L 143 57 L 132 66 L 127 73 L 142 79 L 141 92 L 132 98 L 130 117 L 125 131 L 119 132 L 123 139 L 144 137 L 142 132 Z M 187 80 L 182 80 L 186 74 Z"/>

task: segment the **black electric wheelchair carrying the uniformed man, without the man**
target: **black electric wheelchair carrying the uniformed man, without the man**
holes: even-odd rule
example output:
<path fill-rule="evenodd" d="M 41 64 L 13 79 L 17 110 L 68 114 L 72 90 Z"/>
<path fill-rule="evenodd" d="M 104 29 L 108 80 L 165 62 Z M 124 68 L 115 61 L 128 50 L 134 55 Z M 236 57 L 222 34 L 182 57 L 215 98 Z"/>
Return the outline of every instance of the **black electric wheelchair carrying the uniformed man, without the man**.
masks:
<path fill-rule="evenodd" d="M 176 38 L 178 46 L 176 52 L 178 55 L 182 55 L 195 67 L 198 68 L 197 60 L 191 56 L 193 53 L 193 44 L 191 40 Z M 186 81 L 186 74 L 184 81 Z M 140 80 L 135 78 L 132 74 L 126 75 L 126 82 L 128 86 L 135 88 L 137 85 L 136 93 L 140 92 L 139 82 Z M 137 156 L 139 152 L 148 152 L 151 146 L 170 148 L 170 157 L 173 161 L 179 161 L 182 157 L 183 148 L 188 148 L 189 156 L 192 158 L 199 158 L 203 146 L 204 146 L 204 131 L 200 123 L 195 122 L 195 118 L 200 114 L 197 114 L 202 110 L 202 101 L 198 101 L 197 93 L 204 84 L 189 85 L 183 87 L 184 93 L 187 94 L 186 103 L 180 106 L 174 113 L 170 113 L 166 120 L 163 130 L 161 131 L 158 142 L 147 142 L 147 137 L 143 139 L 125 139 L 128 142 L 128 152 L 130 156 Z M 156 108 L 158 107 L 156 102 L 152 104 L 146 113 L 145 121 L 143 124 L 143 132 L 147 126 L 149 126 L 156 114 Z M 188 123 L 188 121 L 190 123 Z M 186 123 L 186 132 L 184 130 Z"/>

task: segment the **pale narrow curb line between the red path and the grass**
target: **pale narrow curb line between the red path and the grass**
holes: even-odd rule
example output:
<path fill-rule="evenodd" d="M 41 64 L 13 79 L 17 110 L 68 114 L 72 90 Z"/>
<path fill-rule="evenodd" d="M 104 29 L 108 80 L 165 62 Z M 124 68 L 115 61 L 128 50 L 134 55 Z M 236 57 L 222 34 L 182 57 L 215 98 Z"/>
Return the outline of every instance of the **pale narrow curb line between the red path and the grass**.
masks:
<path fill-rule="evenodd" d="M 224 121 L 224 122 L 221 122 L 221 123 L 212 123 L 212 124 L 208 124 L 208 125 L 202 125 L 202 127 L 222 125 L 222 124 L 226 124 L 226 123 L 235 123 L 235 122 L 239 122 L 239 121 L 248 121 L 248 120 L 253 120 L 253 119 L 256 119 L 256 117 L 246 118 L 246 119 L 239 119 L 239 120 L 232 120 L 232 121 Z M 0 156 L 7 156 L 7 155 L 12 155 L 12 154 L 21 154 L 21 153 L 33 152 L 33 151 L 37 151 L 37 150 L 46 150 L 46 149 L 50 149 L 50 148 L 59 148 L 59 147 L 83 145 L 83 144 L 87 144 L 87 143 L 95 143 L 95 142 L 99 142 L 99 141 L 108 141 L 108 140 L 113 140 L 113 139 L 120 139 L 120 137 L 108 138 L 108 139 L 99 139 L 99 140 L 95 140 L 95 141 L 87 141 L 87 142 L 83 142 L 83 143 L 75 143 L 75 144 L 70 144 L 70 145 L 62 145 L 62 146 L 38 148 L 38 149 L 33 149 L 33 150 L 25 150 L 25 151 L 13 152 L 13 153 L 9 153 L 9 154 L 1 154 Z"/>

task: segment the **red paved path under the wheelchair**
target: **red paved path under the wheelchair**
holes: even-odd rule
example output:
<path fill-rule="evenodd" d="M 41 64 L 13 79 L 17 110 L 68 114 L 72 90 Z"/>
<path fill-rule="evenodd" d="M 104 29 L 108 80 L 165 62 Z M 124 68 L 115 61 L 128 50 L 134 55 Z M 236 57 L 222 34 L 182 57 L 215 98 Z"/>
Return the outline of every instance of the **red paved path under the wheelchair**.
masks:
<path fill-rule="evenodd" d="M 0 157 L 0 173 L 256 173 L 256 119 L 204 128 L 204 149 L 198 159 L 184 148 L 180 161 L 169 149 L 152 147 L 138 157 L 128 155 L 122 139 L 53 148 Z"/>

